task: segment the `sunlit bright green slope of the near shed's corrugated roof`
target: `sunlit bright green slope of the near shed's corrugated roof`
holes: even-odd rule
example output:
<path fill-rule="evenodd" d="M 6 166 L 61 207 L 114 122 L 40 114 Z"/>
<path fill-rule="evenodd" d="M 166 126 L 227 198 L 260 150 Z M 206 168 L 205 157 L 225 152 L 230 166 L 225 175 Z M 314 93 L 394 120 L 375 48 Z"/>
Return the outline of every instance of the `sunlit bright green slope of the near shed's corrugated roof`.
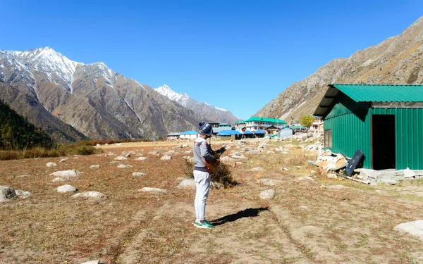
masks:
<path fill-rule="evenodd" d="M 423 85 L 331 84 L 356 102 L 423 101 Z"/>

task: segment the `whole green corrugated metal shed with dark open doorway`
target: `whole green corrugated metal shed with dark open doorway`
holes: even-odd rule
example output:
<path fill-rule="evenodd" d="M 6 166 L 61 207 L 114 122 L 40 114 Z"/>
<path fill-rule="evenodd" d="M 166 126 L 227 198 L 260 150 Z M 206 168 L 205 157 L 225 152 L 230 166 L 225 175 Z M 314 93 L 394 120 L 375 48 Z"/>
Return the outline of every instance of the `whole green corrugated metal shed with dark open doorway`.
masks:
<path fill-rule="evenodd" d="M 324 147 L 363 168 L 423 170 L 423 85 L 329 84 L 314 115 L 324 120 Z"/>

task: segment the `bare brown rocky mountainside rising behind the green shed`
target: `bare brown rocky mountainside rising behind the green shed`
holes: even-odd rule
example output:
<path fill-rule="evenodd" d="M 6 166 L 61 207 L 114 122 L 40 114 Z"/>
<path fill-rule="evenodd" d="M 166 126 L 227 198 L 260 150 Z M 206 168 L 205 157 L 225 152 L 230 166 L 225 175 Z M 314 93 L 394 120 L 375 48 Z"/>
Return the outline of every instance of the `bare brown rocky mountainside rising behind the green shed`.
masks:
<path fill-rule="evenodd" d="M 330 61 L 291 84 L 255 115 L 288 122 L 300 120 L 301 115 L 314 113 L 330 83 L 422 84 L 423 17 L 376 46 Z"/>

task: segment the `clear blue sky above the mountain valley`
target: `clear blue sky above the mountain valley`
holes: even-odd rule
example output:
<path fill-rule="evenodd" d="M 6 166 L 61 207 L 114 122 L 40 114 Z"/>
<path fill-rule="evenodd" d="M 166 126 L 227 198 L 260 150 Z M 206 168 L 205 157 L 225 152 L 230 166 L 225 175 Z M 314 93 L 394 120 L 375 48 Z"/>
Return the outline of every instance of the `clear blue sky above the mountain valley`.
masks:
<path fill-rule="evenodd" d="M 334 58 L 400 34 L 423 15 L 401 1 L 0 0 L 0 49 L 51 46 L 168 84 L 247 119 Z"/>

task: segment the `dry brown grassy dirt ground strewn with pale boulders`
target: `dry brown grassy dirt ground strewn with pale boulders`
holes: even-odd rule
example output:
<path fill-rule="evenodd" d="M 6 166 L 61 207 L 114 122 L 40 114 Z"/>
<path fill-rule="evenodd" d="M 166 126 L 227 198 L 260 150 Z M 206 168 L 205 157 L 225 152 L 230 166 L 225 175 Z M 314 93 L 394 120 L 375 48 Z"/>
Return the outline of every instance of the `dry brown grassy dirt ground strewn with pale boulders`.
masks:
<path fill-rule="evenodd" d="M 0 203 L 0 263 L 423 263 L 423 242 L 393 230 L 423 219 L 423 182 L 393 187 L 320 175 L 307 180 L 303 176 L 312 168 L 306 161 L 314 154 L 298 144 L 269 142 L 254 154 L 248 150 L 263 142 L 238 148 L 227 143 L 231 149 L 223 156 L 240 152 L 247 159 L 231 168 L 238 184 L 210 192 L 207 218 L 213 230 L 192 225 L 195 190 L 178 188 L 191 143 L 180 149 L 173 149 L 176 142 L 101 146 L 102 154 L 69 156 L 63 163 L 61 158 L 0 161 L 0 185 L 33 194 Z M 288 153 L 275 150 L 280 146 Z M 159 156 L 149 154 L 154 150 Z M 170 150 L 172 159 L 161 161 Z M 128 151 L 135 151 L 128 160 L 114 161 Z M 139 156 L 148 159 L 135 161 Z M 57 166 L 47 168 L 47 162 Z M 120 163 L 133 168 L 118 168 Z M 250 171 L 257 167 L 264 170 Z M 83 173 L 52 182 L 52 172 L 70 169 Z M 265 178 L 280 183 L 257 183 Z M 107 198 L 76 199 L 56 191 L 63 184 Z M 336 184 L 345 188 L 331 189 Z M 168 192 L 139 191 L 143 187 Z M 276 198 L 260 199 L 266 189 L 274 189 Z"/>

